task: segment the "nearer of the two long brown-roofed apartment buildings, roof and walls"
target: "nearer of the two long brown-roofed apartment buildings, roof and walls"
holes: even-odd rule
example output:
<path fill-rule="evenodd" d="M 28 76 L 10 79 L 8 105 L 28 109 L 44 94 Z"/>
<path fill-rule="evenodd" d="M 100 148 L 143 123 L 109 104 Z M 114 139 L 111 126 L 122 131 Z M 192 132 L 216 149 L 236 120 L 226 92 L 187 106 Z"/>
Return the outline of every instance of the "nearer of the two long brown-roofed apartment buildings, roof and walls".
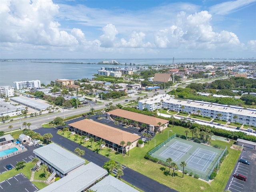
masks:
<path fill-rule="evenodd" d="M 118 128 L 114 128 L 93 120 L 84 119 L 78 122 L 74 122 L 69 125 L 69 130 L 75 132 L 80 136 L 93 137 L 96 141 L 102 139 L 106 146 L 109 148 L 114 148 L 117 152 L 122 153 L 122 146 L 120 142 L 124 141 L 126 144 L 128 141 L 132 142 L 130 149 L 136 147 L 137 141 L 140 136 L 132 134 Z M 124 146 L 125 151 L 128 150 L 129 146 Z"/>

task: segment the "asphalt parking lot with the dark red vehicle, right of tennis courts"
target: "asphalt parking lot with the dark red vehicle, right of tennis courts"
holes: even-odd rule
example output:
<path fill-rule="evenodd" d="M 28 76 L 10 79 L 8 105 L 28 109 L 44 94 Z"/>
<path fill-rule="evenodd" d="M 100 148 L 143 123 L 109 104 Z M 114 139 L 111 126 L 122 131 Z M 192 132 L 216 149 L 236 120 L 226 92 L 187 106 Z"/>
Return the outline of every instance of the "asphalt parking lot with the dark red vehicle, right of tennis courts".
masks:
<path fill-rule="evenodd" d="M 244 148 L 240 158 L 250 162 L 250 165 L 238 162 L 230 176 L 226 189 L 232 192 L 256 192 L 256 151 Z M 238 160 L 240 160 L 240 158 Z M 242 174 L 247 177 L 246 181 L 234 178 L 233 175 Z"/>

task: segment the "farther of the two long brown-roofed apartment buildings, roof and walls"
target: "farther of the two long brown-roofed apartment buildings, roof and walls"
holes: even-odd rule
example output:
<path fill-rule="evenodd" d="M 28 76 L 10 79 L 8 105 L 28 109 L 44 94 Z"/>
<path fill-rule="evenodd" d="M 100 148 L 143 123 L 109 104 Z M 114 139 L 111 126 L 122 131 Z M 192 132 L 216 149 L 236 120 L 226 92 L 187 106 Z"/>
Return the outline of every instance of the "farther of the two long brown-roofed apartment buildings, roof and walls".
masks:
<path fill-rule="evenodd" d="M 107 114 L 108 119 L 116 119 L 116 118 L 124 118 L 128 120 L 132 120 L 133 124 L 135 125 L 134 122 L 138 122 L 138 126 L 141 127 L 142 124 L 146 124 L 146 128 L 149 129 L 151 132 L 158 132 L 162 130 L 162 128 L 166 128 L 169 124 L 168 120 L 144 115 L 144 114 L 139 114 L 127 110 L 122 110 L 122 109 L 115 109 Z M 161 127 L 159 127 L 158 123 L 161 123 Z"/>

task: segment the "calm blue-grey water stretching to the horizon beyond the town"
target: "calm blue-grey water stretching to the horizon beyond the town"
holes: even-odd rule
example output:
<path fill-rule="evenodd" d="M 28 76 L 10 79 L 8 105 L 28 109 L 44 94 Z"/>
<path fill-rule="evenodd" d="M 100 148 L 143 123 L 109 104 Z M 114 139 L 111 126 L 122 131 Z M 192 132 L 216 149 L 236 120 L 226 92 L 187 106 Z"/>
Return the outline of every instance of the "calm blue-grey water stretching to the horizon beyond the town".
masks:
<path fill-rule="evenodd" d="M 172 58 L 166 59 L 21 59 L 0 61 L 0 86 L 13 86 L 14 81 L 40 80 L 41 83 L 49 84 L 56 79 L 78 80 L 82 78 L 93 78 L 101 67 L 114 66 L 98 64 L 102 61 L 140 65 L 170 65 Z M 226 59 L 175 59 L 174 64 L 191 62 L 221 62 Z M 226 60 L 247 61 L 247 60 Z"/>

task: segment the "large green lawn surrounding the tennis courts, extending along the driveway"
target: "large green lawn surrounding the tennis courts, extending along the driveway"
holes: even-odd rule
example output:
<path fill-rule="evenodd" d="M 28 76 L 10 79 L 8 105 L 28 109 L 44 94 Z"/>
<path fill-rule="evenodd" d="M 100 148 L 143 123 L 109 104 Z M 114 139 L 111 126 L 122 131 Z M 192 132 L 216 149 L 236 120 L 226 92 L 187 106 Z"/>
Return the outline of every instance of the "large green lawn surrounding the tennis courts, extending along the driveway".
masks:
<path fill-rule="evenodd" d="M 226 160 L 224 160 L 224 163 L 222 164 L 222 166 L 220 166 L 219 173 L 216 176 L 215 180 L 212 181 L 210 185 L 205 181 L 194 179 L 188 175 L 185 175 L 184 179 L 182 179 L 182 172 L 177 170 L 175 171 L 176 176 L 172 177 L 171 174 L 168 173 L 167 167 L 144 159 L 144 155 L 150 150 L 152 150 L 152 148 L 154 148 L 154 143 L 156 142 L 156 145 L 162 143 L 164 140 L 167 139 L 168 133 L 169 133 L 169 136 L 171 136 L 174 133 L 185 135 L 184 131 L 188 130 L 187 128 L 183 128 L 180 126 L 174 126 L 174 128 L 171 128 L 171 129 L 173 130 L 172 132 L 169 132 L 170 128 L 166 128 L 164 130 L 164 134 L 159 134 L 159 133 L 156 134 L 156 136 L 150 141 L 150 144 L 145 144 L 143 148 L 138 148 L 138 147 L 133 148 L 132 150 L 130 150 L 129 156 L 127 155 L 128 152 L 125 156 L 116 152 L 112 152 L 111 154 L 109 154 L 106 148 L 102 150 L 101 154 L 108 156 L 108 158 L 113 159 L 116 162 L 121 163 L 125 166 L 128 166 L 129 168 L 132 168 L 133 170 L 136 170 L 141 174 L 144 174 L 178 191 L 182 191 L 182 192 L 223 191 L 228 181 L 228 178 L 232 173 L 232 169 L 234 168 L 234 165 L 236 164 L 238 157 L 240 155 L 240 151 L 229 148 L 232 145 L 231 142 L 226 143 L 219 140 L 212 141 L 211 145 L 218 144 L 223 146 L 223 148 L 228 146 L 229 154 Z M 64 136 L 67 137 L 67 132 L 64 133 Z M 192 133 L 188 133 L 188 137 L 192 137 Z M 71 136 L 69 139 L 74 141 L 74 136 Z M 80 139 L 76 142 L 80 143 Z M 90 142 L 85 142 L 85 144 L 82 144 L 82 145 L 91 149 Z M 100 150 L 98 149 L 98 146 L 96 146 L 95 142 L 93 142 L 92 144 L 92 150 L 100 153 Z"/>

